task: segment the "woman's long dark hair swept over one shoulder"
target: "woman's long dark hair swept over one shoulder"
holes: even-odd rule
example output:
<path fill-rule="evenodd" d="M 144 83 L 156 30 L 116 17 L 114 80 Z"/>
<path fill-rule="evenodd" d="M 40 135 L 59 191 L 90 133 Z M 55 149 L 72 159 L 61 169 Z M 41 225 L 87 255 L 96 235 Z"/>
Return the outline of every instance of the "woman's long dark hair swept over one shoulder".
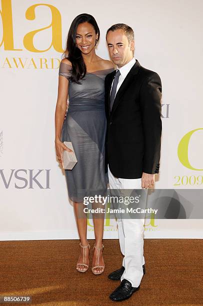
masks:
<path fill-rule="evenodd" d="M 77 84 L 80 84 L 79 79 L 83 78 L 84 75 L 86 74 L 86 66 L 82 58 L 81 51 L 76 47 L 77 26 L 78 24 L 84 22 L 88 22 L 93 26 L 95 33 L 98 34 L 98 39 L 99 39 L 100 31 L 94 17 L 86 13 L 79 14 L 74 18 L 74 20 L 70 25 L 67 35 L 66 49 L 63 52 L 65 58 L 67 58 L 72 64 L 72 71 L 69 80 L 74 81 Z"/>

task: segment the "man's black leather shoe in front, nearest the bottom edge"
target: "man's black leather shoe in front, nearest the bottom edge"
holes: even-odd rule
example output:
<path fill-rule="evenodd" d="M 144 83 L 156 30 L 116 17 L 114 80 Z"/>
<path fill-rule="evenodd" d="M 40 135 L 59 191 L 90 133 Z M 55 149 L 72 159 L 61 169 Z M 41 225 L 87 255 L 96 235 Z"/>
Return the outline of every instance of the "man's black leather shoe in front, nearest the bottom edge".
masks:
<path fill-rule="evenodd" d="M 138 289 L 139 286 L 132 287 L 131 282 L 129 282 L 127 279 L 122 279 L 120 285 L 109 295 L 109 297 L 111 300 L 121 301 L 129 298 L 132 293 L 134 293 Z"/>

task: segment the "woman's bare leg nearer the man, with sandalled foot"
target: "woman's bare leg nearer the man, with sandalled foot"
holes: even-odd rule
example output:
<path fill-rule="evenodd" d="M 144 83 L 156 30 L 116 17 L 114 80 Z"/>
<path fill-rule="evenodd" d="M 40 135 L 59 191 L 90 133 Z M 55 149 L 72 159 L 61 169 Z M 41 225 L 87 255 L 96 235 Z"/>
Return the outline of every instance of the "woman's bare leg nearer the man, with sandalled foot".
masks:
<path fill-rule="evenodd" d="M 101 203 L 92 203 L 92 209 L 105 208 Z M 98 265 L 104 266 L 103 256 L 102 256 L 102 238 L 103 238 L 103 224 L 104 224 L 104 213 L 92 213 L 93 225 L 94 225 L 94 235 L 95 235 L 95 248 L 93 248 L 92 266 Z M 98 248 L 101 248 L 98 250 Z M 98 261 L 99 256 L 99 261 Z M 104 268 L 97 267 L 94 268 L 95 272 L 101 272 Z"/>

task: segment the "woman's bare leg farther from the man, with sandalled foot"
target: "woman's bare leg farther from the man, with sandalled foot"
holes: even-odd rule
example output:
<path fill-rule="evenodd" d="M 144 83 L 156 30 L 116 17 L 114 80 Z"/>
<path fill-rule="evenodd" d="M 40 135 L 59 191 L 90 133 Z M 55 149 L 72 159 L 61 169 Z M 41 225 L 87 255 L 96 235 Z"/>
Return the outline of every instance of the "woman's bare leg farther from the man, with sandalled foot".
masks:
<path fill-rule="evenodd" d="M 85 206 L 83 205 L 83 203 L 73 202 L 73 207 L 74 207 L 74 214 L 75 214 L 80 242 L 82 246 L 86 246 L 88 245 L 88 241 L 86 239 L 87 218 L 86 218 L 86 214 L 83 211 L 83 208 Z M 80 256 L 77 261 L 77 263 L 81 263 L 81 264 L 77 264 L 77 268 L 79 270 L 86 269 L 86 266 L 82 264 L 83 254 L 84 254 L 84 263 L 89 265 L 89 248 L 88 247 L 84 247 L 84 248 L 80 247 Z"/>

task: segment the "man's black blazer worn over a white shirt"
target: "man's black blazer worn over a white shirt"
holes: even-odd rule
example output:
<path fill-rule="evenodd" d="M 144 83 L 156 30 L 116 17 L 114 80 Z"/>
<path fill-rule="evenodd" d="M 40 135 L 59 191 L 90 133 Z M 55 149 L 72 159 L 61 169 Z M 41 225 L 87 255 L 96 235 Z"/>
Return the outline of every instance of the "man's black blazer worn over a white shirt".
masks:
<path fill-rule="evenodd" d="M 120 178 L 158 173 L 161 137 L 161 80 L 136 60 L 110 112 L 110 89 L 115 70 L 105 77 L 105 171 Z"/>

